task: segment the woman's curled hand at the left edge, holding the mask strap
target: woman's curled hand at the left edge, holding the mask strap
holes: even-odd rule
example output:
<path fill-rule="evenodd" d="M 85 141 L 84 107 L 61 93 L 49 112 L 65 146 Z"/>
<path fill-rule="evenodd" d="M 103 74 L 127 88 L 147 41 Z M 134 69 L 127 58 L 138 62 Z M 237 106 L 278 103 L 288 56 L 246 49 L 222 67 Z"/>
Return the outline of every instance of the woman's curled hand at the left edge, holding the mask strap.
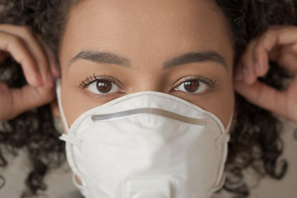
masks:
<path fill-rule="evenodd" d="M 53 53 L 29 27 L 0 24 L 0 62 L 8 55 L 21 64 L 28 85 L 16 89 L 0 82 L 0 121 L 49 103 L 59 77 Z"/>

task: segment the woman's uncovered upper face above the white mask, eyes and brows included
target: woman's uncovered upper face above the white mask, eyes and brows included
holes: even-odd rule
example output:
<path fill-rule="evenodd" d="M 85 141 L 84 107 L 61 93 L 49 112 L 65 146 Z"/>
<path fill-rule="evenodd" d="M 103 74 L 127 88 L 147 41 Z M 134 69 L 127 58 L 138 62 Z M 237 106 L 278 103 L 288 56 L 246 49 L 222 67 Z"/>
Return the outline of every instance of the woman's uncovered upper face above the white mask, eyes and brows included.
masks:
<path fill-rule="evenodd" d="M 69 126 L 85 111 L 141 91 L 170 94 L 214 113 L 234 108 L 231 32 L 210 0 L 84 0 L 59 51 Z"/>

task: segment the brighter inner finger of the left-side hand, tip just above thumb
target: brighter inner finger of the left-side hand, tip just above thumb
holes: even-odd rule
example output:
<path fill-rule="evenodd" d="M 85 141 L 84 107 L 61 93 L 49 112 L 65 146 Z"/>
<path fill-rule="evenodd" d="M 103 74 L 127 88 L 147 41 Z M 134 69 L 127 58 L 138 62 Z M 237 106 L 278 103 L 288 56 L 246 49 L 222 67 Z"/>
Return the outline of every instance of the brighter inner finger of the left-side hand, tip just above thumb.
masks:
<path fill-rule="evenodd" d="M 21 64 L 30 85 L 41 86 L 43 84 L 35 60 L 20 38 L 0 31 L 0 50 L 8 51 Z"/>

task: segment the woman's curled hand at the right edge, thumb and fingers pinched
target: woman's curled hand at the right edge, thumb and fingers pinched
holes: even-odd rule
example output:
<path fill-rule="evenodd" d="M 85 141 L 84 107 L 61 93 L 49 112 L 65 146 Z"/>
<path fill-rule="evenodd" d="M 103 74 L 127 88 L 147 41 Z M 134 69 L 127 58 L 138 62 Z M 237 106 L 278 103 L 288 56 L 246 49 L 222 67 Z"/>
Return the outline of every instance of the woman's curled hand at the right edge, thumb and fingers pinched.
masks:
<path fill-rule="evenodd" d="M 269 59 L 293 74 L 287 90 L 278 91 L 257 80 L 267 73 Z M 272 26 L 251 40 L 235 80 L 235 90 L 249 102 L 297 122 L 297 27 Z"/>

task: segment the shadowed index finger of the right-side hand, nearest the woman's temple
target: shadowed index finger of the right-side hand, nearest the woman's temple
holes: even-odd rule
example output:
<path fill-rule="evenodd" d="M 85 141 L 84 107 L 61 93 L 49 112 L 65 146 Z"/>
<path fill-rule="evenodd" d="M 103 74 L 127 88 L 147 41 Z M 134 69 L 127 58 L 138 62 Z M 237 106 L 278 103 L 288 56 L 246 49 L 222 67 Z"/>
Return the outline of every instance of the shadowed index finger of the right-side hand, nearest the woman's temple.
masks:
<path fill-rule="evenodd" d="M 254 62 L 253 62 L 253 50 L 254 46 L 256 45 L 257 40 L 253 39 L 250 41 L 250 43 L 247 45 L 247 48 L 245 52 L 243 53 L 240 63 L 238 66 L 237 73 L 237 80 L 244 80 L 247 84 L 252 84 L 257 76 L 255 75 L 254 70 Z"/>

